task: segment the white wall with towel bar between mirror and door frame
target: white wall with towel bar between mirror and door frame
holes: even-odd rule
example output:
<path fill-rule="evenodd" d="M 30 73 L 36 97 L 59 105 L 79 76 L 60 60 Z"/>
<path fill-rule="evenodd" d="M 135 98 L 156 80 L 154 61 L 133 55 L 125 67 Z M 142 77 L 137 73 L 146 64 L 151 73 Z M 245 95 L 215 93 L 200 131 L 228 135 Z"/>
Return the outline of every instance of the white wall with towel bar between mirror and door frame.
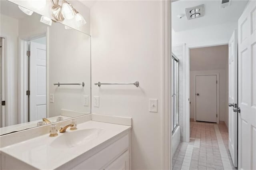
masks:
<path fill-rule="evenodd" d="M 91 8 L 92 113 L 132 117 L 131 169 L 160 169 L 162 1 L 98 1 Z M 140 86 L 94 83 L 139 81 Z M 158 113 L 148 99 L 158 99 Z"/>

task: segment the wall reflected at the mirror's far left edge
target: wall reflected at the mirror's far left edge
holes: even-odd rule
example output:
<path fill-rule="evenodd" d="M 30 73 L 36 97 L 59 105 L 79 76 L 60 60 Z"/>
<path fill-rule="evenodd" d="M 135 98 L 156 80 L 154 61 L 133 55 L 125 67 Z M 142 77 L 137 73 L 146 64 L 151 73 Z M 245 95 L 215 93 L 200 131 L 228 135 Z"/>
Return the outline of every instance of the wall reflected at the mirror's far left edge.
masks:
<path fill-rule="evenodd" d="M 6 126 L 18 123 L 18 20 L 0 14 L 0 36 L 6 42 Z"/>

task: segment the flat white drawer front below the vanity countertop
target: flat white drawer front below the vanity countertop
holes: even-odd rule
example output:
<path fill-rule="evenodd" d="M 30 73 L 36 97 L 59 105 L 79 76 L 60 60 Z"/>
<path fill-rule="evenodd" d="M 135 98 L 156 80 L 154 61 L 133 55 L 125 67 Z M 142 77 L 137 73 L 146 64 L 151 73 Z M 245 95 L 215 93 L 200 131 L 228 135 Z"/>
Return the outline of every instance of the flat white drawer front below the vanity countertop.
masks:
<path fill-rule="evenodd" d="M 110 146 L 104 148 L 100 152 L 94 154 L 81 164 L 78 164 L 73 170 L 99 170 L 106 166 L 110 162 L 113 162 L 120 154 L 129 148 L 129 136 L 128 134 Z"/>

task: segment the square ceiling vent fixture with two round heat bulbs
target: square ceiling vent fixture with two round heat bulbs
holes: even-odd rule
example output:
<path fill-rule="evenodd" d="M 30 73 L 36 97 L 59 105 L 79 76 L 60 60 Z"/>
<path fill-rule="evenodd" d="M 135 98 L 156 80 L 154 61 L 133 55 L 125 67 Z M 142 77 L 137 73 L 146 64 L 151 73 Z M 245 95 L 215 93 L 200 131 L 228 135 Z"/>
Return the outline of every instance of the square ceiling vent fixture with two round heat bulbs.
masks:
<path fill-rule="evenodd" d="M 204 16 L 204 4 L 194 6 L 191 8 L 186 8 L 185 10 L 186 10 L 186 16 L 188 20 L 192 20 L 192 19 L 196 19 Z"/>

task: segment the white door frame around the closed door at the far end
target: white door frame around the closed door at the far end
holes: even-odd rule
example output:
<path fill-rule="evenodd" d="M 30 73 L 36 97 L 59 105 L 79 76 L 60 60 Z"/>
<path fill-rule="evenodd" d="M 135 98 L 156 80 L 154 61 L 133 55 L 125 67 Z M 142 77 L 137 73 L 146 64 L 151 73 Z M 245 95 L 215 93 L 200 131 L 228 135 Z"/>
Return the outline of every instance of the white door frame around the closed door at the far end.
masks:
<path fill-rule="evenodd" d="M 220 122 L 220 78 L 219 73 L 203 73 L 194 75 L 194 91 L 196 92 L 196 76 L 202 75 L 216 75 L 217 79 L 217 123 Z M 196 121 L 196 95 L 194 95 L 194 121 Z"/>

